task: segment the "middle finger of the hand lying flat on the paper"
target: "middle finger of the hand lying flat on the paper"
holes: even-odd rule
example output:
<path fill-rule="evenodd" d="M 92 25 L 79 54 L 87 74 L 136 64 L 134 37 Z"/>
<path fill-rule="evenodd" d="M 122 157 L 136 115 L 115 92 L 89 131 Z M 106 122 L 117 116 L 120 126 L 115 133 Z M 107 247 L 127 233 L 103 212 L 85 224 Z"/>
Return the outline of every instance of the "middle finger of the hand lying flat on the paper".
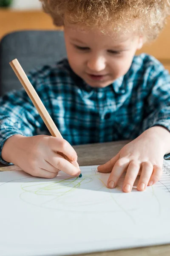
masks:
<path fill-rule="evenodd" d="M 127 172 L 125 175 L 125 180 L 123 183 L 123 191 L 130 192 L 132 190 L 133 184 L 136 180 L 136 177 L 139 174 L 140 164 L 139 162 L 133 160 L 130 162 Z"/>

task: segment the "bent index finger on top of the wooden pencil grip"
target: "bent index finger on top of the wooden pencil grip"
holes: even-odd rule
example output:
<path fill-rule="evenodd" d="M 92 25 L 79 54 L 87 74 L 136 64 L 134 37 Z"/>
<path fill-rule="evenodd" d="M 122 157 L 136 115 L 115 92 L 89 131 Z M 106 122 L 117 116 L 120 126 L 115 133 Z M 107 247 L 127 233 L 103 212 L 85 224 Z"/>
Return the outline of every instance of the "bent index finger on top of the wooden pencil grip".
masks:
<path fill-rule="evenodd" d="M 65 154 L 71 161 L 77 161 L 77 153 L 74 148 L 68 143 L 68 141 L 62 138 L 52 137 L 49 140 L 50 148 L 54 152 L 62 152 Z"/>

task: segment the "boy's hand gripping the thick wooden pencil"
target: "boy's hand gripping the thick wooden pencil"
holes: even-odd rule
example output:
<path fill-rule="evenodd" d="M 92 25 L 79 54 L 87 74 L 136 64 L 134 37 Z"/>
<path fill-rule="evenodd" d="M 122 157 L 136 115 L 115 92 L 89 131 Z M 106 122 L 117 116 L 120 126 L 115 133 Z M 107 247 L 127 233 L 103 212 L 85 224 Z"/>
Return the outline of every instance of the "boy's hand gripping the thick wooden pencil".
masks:
<path fill-rule="evenodd" d="M 73 164 L 57 152 L 65 154 Z M 76 151 L 62 138 L 13 135 L 4 143 L 1 157 L 35 177 L 54 178 L 59 170 L 72 176 L 80 175 L 80 170 L 74 166 L 74 161 L 77 161 Z"/>

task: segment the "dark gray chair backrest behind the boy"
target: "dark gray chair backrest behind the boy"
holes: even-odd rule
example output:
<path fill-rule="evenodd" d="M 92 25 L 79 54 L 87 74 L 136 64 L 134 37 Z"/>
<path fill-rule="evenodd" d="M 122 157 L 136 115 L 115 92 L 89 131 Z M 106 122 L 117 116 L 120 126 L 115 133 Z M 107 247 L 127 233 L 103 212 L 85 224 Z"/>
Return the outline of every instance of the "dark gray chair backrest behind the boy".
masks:
<path fill-rule="evenodd" d="M 22 87 L 9 62 L 17 58 L 28 73 L 67 56 L 63 31 L 18 31 L 0 41 L 0 96 Z"/>

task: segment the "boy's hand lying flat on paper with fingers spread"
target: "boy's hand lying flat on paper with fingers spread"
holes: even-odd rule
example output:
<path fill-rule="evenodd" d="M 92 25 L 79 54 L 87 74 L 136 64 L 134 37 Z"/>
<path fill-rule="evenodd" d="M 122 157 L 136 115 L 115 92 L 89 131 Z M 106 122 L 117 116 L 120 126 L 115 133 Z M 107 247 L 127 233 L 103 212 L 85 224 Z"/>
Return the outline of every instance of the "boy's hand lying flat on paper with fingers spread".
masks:
<path fill-rule="evenodd" d="M 167 143 L 170 139 L 168 133 L 169 131 L 163 127 L 152 127 L 125 145 L 110 161 L 99 166 L 99 172 L 111 172 L 108 187 L 115 188 L 123 172 L 126 172 L 124 192 L 132 190 L 139 174 L 137 185 L 139 191 L 144 191 L 147 186 L 155 184 L 162 175 L 164 154 L 167 153 Z"/>

